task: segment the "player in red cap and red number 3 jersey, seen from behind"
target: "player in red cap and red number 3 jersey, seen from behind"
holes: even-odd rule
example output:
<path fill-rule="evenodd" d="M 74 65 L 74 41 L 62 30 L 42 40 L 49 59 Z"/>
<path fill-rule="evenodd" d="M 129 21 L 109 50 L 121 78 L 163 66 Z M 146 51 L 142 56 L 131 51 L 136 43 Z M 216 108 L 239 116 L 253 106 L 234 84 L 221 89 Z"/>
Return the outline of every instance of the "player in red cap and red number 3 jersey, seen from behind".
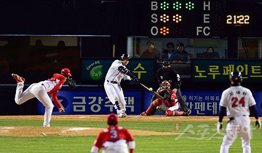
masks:
<path fill-rule="evenodd" d="M 95 140 L 91 153 L 97 153 L 101 147 L 103 153 L 128 153 L 128 148 L 130 153 L 133 153 L 136 146 L 135 140 L 126 128 L 117 125 L 117 115 L 109 114 L 107 124 L 109 126 L 100 132 Z"/>

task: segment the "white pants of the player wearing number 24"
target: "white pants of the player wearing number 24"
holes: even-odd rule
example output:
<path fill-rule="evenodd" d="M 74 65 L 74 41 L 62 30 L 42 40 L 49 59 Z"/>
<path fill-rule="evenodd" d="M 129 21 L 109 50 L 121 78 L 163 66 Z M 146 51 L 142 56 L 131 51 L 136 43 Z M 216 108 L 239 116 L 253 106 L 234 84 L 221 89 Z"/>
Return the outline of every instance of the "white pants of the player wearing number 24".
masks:
<path fill-rule="evenodd" d="M 226 134 L 224 134 L 223 143 L 220 147 L 220 153 L 229 152 L 229 147 L 236 140 L 238 133 L 240 133 L 241 136 L 243 153 L 251 152 L 250 130 L 249 116 L 236 116 L 234 120 L 227 124 Z"/>

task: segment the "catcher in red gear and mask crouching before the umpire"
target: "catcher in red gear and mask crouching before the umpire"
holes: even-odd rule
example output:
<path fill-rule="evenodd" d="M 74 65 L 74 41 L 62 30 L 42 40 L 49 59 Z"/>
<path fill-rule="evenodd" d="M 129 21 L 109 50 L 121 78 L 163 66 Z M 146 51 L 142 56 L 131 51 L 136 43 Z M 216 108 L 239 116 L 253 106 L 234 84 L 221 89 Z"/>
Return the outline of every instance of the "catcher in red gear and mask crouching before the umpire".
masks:
<path fill-rule="evenodd" d="M 189 116 L 187 112 L 178 110 L 179 104 L 177 96 L 174 91 L 171 90 L 171 84 L 169 81 L 163 81 L 160 84 L 160 90 L 157 91 L 164 99 L 157 98 L 154 100 L 145 112 L 140 115 L 149 116 L 154 115 L 158 106 L 165 112 L 166 116 Z"/>

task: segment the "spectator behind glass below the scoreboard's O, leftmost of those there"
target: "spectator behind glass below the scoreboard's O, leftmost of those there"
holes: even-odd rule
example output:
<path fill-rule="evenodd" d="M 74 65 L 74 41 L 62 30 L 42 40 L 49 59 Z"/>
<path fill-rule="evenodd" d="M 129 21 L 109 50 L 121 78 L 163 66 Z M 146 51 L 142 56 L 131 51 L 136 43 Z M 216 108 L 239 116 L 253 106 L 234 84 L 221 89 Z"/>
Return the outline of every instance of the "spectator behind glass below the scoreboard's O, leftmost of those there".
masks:
<path fill-rule="evenodd" d="M 140 58 L 156 58 L 160 59 L 159 51 L 154 47 L 154 43 L 151 41 L 146 42 L 147 50 L 142 53 Z"/>

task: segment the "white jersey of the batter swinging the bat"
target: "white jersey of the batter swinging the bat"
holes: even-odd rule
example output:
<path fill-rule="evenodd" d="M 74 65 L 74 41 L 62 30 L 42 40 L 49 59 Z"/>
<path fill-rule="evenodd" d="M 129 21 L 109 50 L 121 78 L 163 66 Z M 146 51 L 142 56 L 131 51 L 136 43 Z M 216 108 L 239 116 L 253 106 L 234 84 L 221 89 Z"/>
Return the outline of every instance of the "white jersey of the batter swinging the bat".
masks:
<path fill-rule="evenodd" d="M 122 62 L 120 60 L 115 60 L 112 64 L 111 67 L 109 68 L 109 70 L 107 71 L 107 74 L 105 76 L 105 81 L 115 81 L 115 82 L 120 82 L 122 79 L 126 80 L 130 80 L 131 78 L 128 75 L 125 75 L 123 73 L 121 73 L 120 71 L 118 71 L 118 67 L 124 67 L 125 66 L 122 64 Z"/>

